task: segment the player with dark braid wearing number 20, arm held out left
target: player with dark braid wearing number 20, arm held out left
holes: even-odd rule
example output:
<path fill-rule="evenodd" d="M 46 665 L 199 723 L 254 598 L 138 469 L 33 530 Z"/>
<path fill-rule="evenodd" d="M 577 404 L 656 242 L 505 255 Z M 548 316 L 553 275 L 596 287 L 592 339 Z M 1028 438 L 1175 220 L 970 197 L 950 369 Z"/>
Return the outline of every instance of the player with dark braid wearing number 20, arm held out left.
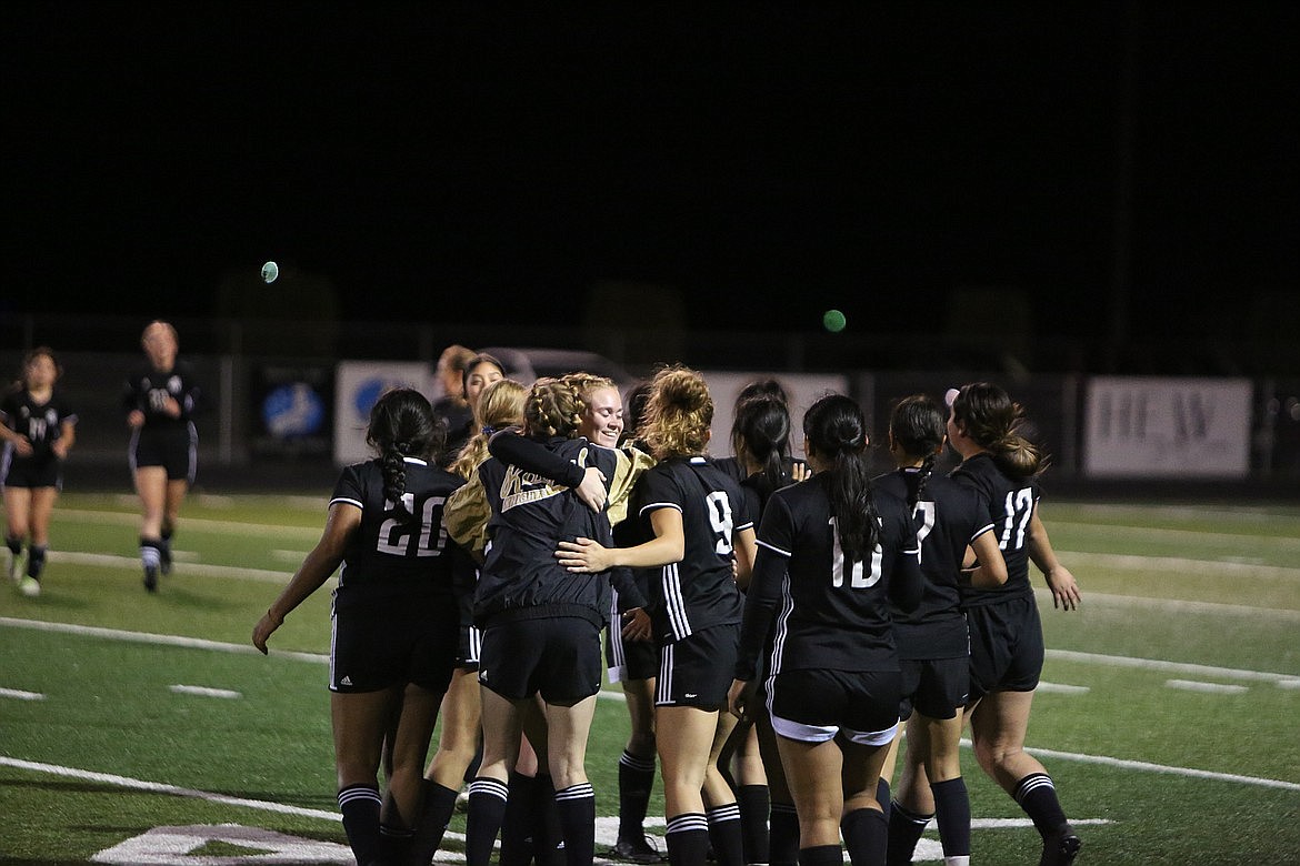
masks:
<path fill-rule="evenodd" d="M 438 705 L 456 665 L 458 595 L 473 569 L 448 540 L 442 506 L 462 480 L 432 462 L 445 431 L 419 391 L 384 393 L 347 466 L 325 531 L 252 632 L 266 639 L 342 563 L 334 591 L 329 689 L 338 805 L 358 863 L 404 862 Z M 386 791 L 378 787 L 380 762 Z"/>

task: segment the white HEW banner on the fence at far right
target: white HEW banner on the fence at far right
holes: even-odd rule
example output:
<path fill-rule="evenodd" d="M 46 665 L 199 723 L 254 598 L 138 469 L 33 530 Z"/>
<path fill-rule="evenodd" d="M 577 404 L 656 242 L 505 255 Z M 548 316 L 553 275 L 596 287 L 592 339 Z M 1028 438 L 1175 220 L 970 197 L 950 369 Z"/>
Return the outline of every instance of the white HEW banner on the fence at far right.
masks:
<path fill-rule="evenodd" d="M 1098 377 L 1084 404 L 1088 478 L 1245 478 L 1249 379 Z"/>

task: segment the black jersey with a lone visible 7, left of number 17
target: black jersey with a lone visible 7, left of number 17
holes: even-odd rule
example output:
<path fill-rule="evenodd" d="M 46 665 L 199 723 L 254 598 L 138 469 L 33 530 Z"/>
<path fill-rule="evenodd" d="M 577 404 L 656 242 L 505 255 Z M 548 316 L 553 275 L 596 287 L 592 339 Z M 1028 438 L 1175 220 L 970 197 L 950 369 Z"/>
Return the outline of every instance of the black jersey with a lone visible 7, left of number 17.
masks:
<path fill-rule="evenodd" d="M 876 489 L 906 501 L 916 483 L 916 469 L 900 469 L 880 475 Z M 920 573 L 926 591 L 911 613 L 896 610 L 894 639 L 901 658 L 956 658 L 970 647 L 966 618 L 961 610 L 957 576 L 966 547 L 993 530 L 988 509 L 975 493 L 950 478 L 931 475 L 920 500 L 911 509 L 920 544 Z"/>

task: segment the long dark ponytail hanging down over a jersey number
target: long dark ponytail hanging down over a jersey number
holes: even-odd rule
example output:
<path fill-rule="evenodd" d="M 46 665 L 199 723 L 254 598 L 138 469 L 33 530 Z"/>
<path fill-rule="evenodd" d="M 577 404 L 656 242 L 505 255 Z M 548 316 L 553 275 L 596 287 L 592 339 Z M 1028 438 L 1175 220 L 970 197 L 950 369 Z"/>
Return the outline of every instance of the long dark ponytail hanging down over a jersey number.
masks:
<path fill-rule="evenodd" d="M 803 436 L 812 453 L 832 461 L 824 475 L 840 547 L 853 560 L 867 560 L 880 538 L 880 521 L 866 461 L 862 408 L 844 395 L 827 395 L 803 415 Z"/>

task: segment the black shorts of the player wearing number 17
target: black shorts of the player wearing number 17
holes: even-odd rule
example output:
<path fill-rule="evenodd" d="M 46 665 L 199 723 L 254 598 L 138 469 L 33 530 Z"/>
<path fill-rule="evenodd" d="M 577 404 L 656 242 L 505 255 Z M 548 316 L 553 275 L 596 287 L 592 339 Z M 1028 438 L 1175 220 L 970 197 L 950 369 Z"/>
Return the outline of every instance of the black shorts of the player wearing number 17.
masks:
<path fill-rule="evenodd" d="M 966 610 L 971 635 L 971 693 L 1032 692 L 1043 675 L 1043 622 L 1034 596 Z"/>

